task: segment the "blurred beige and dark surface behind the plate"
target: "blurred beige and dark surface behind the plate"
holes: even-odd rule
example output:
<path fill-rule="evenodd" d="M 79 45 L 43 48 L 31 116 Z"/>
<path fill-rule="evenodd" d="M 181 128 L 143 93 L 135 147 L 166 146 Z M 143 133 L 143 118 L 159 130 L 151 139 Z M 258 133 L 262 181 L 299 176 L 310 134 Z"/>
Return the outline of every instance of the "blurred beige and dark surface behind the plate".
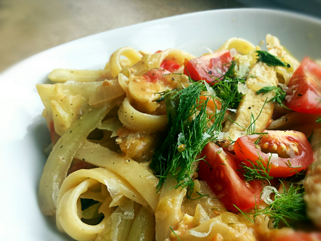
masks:
<path fill-rule="evenodd" d="M 0 72 L 43 50 L 102 31 L 239 7 L 288 9 L 321 17 L 321 0 L 0 0 Z"/>

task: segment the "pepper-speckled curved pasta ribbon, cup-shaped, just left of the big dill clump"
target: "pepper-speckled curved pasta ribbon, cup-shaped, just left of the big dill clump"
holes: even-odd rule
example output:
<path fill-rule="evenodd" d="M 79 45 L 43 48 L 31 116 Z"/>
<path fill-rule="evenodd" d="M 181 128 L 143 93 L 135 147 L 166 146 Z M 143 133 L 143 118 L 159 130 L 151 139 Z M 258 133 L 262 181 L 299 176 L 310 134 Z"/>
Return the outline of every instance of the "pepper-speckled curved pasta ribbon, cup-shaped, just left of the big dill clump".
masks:
<path fill-rule="evenodd" d="M 118 110 L 118 118 L 124 126 L 134 131 L 145 131 L 154 134 L 166 130 L 168 119 L 166 115 L 150 115 L 137 111 L 128 97 Z"/>

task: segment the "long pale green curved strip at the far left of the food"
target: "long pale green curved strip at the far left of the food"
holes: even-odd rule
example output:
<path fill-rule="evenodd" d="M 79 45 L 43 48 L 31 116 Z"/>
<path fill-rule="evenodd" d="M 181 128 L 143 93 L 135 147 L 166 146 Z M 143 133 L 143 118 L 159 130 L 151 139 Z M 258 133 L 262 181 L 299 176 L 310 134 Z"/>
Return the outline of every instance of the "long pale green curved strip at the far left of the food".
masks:
<path fill-rule="evenodd" d="M 74 122 L 53 147 L 39 183 L 39 206 L 44 214 L 56 213 L 59 189 L 67 176 L 75 153 L 113 107 L 113 103 L 107 103 L 100 108 L 92 107 L 82 118 Z"/>

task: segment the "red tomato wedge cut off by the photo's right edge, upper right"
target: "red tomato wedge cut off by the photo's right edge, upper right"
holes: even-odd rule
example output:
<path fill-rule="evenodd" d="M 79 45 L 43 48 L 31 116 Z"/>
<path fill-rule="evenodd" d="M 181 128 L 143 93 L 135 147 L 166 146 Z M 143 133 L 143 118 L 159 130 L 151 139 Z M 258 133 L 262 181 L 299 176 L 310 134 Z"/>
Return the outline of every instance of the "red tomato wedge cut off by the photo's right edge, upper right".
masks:
<path fill-rule="evenodd" d="M 321 113 L 321 67 L 305 57 L 293 73 L 287 90 L 286 106 L 301 113 Z"/>

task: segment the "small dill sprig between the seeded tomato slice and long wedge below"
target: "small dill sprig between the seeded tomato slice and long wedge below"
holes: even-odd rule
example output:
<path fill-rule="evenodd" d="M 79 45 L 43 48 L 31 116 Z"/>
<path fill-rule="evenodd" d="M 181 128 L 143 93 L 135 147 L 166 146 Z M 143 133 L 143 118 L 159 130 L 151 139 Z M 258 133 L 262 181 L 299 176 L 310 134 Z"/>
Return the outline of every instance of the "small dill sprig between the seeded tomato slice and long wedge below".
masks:
<path fill-rule="evenodd" d="M 269 175 L 272 165 L 272 163 L 270 163 L 271 157 L 272 155 L 269 157 L 266 165 L 264 165 L 265 160 L 260 155 L 255 163 L 248 160 L 251 166 L 247 166 L 246 163 L 241 162 L 241 165 L 239 165 L 241 168 L 236 171 L 243 174 L 245 182 L 266 180 L 271 185 L 269 181 L 273 179 L 273 177 Z"/>

